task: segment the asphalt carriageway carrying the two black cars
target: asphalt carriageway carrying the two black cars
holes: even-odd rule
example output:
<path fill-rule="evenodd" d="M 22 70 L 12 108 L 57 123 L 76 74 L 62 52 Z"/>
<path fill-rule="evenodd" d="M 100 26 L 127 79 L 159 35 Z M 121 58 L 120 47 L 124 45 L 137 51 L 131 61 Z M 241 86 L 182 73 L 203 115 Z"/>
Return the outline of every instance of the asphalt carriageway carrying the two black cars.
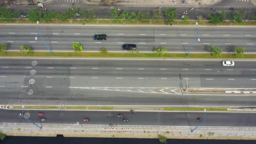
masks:
<path fill-rule="evenodd" d="M 21 45 L 31 45 L 35 51 L 73 51 L 72 43 L 81 43 L 84 51 L 122 50 L 126 43 L 136 44 L 139 52 L 152 52 L 154 48 L 166 47 L 168 52 L 187 53 L 195 37 L 196 27 L 109 27 L 109 26 L 39 26 L 0 27 L 0 43 L 8 43 L 8 51 L 19 51 Z M 107 40 L 95 41 L 95 34 L 107 34 Z M 37 37 L 37 40 L 35 40 Z M 199 38 L 199 40 L 198 40 Z M 235 47 L 245 47 L 245 52 L 255 53 L 256 32 L 253 27 L 199 27 L 199 33 L 191 52 L 208 53 L 211 45 L 223 52 L 234 52 Z"/>

